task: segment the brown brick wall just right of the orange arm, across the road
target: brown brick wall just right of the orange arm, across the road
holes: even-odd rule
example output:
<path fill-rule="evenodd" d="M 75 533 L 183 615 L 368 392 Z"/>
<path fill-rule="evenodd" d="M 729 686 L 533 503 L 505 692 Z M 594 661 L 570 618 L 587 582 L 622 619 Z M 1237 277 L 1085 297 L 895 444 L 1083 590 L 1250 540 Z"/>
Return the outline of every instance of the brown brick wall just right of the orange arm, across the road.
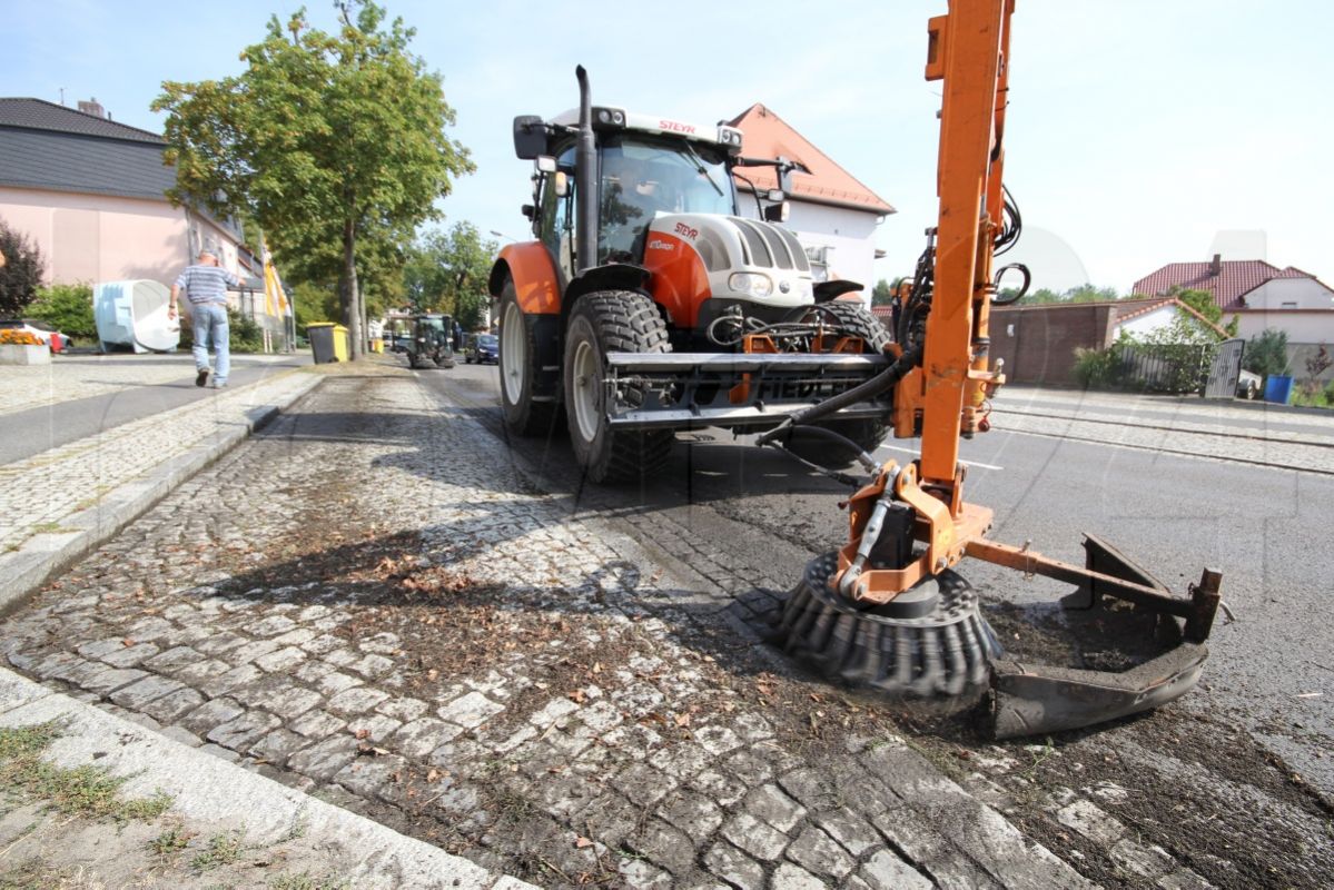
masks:
<path fill-rule="evenodd" d="M 1117 307 L 1109 303 L 992 307 L 991 356 L 1011 383 L 1074 386 L 1075 347 L 1106 348 Z"/>

